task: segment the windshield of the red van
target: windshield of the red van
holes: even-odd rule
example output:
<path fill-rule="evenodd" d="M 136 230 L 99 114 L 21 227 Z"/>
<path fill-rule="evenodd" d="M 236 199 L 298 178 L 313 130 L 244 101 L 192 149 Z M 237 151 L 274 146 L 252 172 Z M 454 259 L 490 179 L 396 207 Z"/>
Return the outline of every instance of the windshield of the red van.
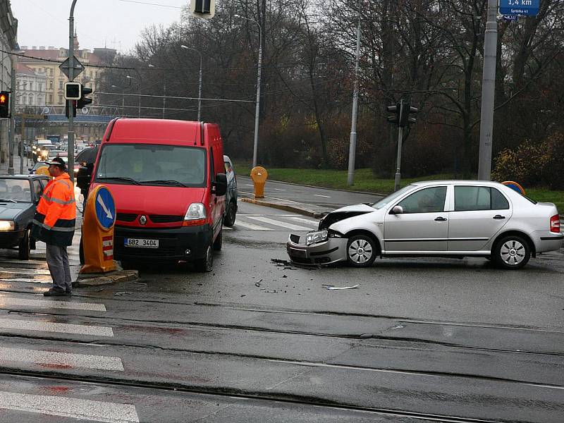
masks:
<path fill-rule="evenodd" d="M 206 150 L 176 145 L 104 145 L 94 181 L 204 187 Z"/>

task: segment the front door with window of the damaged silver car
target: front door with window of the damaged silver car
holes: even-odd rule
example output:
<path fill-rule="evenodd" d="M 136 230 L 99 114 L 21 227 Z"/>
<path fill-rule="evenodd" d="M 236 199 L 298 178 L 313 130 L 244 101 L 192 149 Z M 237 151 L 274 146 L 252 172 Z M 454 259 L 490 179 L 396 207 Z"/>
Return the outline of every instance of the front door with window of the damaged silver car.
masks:
<path fill-rule="evenodd" d="M 386 253 L 446 251 L 448 212 L 444 212 L 446 185 L 422 188 L 393 204 L 384 217 Z M 403 213 L 391 214 L 401 206 Z"/>

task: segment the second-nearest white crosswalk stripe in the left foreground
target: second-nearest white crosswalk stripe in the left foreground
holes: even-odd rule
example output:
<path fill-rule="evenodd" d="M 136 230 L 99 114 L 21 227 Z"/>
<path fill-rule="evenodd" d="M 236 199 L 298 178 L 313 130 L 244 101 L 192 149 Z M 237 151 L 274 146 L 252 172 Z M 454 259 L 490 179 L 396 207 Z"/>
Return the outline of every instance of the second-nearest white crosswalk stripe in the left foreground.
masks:
<path fill-rule="evenodd" d="M 123 363 L 119 357 L 0 347 L 0 362 L 6 361 L 47 364 L 47 366 L 55 368 L 80 367 L 82 369 L 117 370 L 123 372 Z"/>

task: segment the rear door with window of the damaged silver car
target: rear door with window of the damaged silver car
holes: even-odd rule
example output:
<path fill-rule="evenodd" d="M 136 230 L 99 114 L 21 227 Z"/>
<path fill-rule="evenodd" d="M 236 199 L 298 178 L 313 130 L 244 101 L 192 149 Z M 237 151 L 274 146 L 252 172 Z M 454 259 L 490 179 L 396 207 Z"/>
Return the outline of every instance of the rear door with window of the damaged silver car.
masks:
<path fill-rule="evenodd" d="M 496 188 L 455 185 L 448 225 L 448 251 L 480 251 L 513 214 Z"/>

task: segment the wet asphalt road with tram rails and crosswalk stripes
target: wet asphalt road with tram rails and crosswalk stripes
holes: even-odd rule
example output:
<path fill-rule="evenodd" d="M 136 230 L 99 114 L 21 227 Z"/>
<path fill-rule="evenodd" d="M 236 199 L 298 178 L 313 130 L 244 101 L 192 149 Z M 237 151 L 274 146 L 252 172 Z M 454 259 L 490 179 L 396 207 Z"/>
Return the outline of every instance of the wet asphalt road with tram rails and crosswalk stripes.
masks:
<path fill-rule="evenodd" d="M 563 421 L 561 252 L 284 262 L 316 224 L 240 203 L 209 274 L 144 264 L 62 299 L 44 250 L 1 250 L 0 422 Z"/>

